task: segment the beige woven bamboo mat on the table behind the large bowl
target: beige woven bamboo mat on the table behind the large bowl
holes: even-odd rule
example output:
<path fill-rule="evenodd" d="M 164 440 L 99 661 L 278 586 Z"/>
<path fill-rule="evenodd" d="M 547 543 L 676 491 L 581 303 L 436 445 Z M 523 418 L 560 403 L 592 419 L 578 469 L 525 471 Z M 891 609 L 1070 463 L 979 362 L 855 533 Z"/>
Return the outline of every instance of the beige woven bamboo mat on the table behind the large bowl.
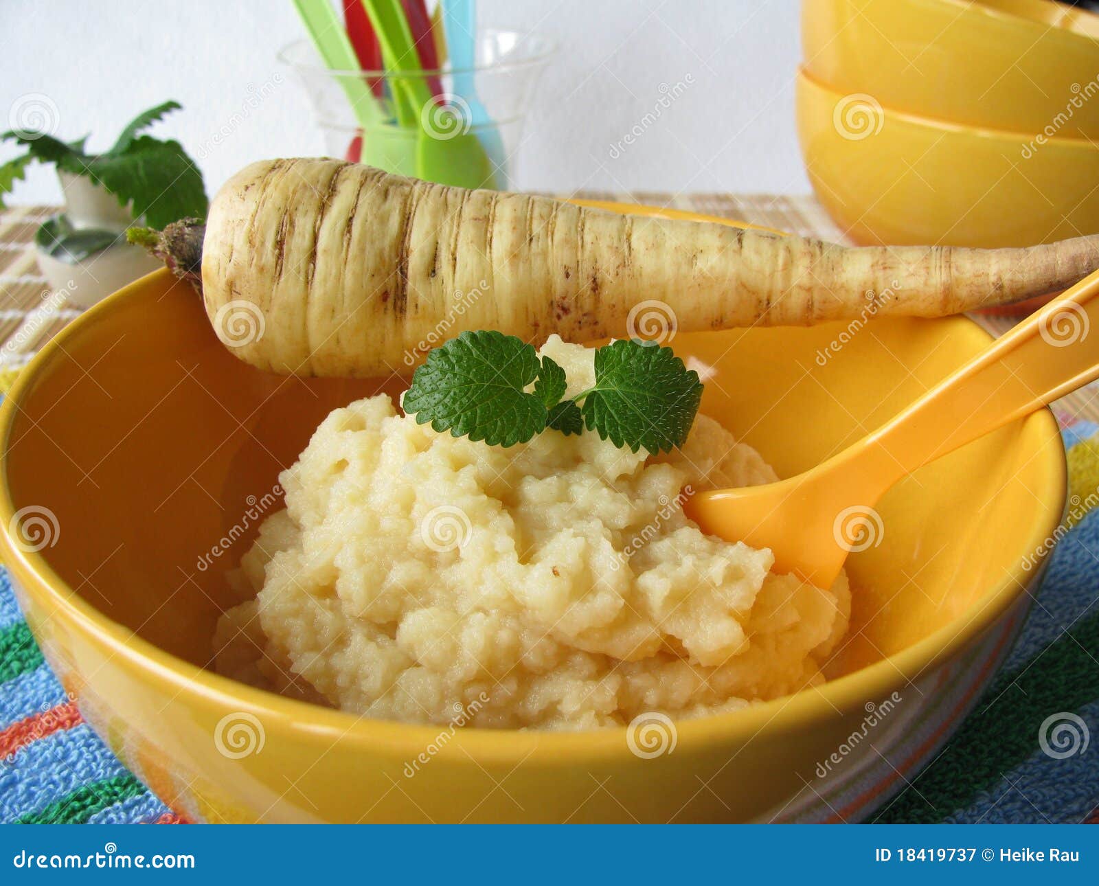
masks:
<path fill-rule="evenodd" d="M 820 203 L 808 196 L 671 196 L 656 191 L 586 191 L 577 196 L 703 212 L 833 243 L 848 242 Z M 49 298 L 49 289 L 34 257 L 34 231 L 56 211 L 56 207 L 22 206 L 0 212 L 0 372 L 23 366 L 45 342 L 80 313 L 64 299 Z M 984 314 L 974 314 L 973 319 L 993 335 L 1002 335 L 1018 322 L 1018 318 Z M 1054 411 L 1063 420 L 1099 422 L 1099 383 L 1058 400 Z"/>

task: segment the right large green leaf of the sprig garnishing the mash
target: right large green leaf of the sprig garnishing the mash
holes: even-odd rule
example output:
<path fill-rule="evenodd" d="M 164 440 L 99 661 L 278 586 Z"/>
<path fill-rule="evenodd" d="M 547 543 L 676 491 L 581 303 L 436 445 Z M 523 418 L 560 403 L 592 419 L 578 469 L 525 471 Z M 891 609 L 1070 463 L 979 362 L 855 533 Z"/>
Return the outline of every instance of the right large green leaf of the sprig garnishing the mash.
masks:
<path fill-rule="evenodd" d="M 596 352 L 582 414 L 603 440 L 655 455 L 682 445 L 701 399 L 698 373 L 670 347 L 623 339 Z"/>

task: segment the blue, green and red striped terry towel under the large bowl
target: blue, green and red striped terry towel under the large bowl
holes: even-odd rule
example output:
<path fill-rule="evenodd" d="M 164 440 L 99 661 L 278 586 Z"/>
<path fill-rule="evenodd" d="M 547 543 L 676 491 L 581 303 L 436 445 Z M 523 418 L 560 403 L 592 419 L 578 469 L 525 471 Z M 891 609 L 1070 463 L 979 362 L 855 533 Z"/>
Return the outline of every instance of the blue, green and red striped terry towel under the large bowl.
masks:
<path fill-rule="evenodd" d="M 1099 428 L 1058 416 L 1072 494 L 1099 489 Z M 1099 728 L 1099 512 L 1057 546 L 1000 676 L 942 753 L 877 821 L 1099 823 L 1099 746 L 1052 756 L 1051 712 Z M 1057 751 L 1054 749 L 1054 753 Z M 0 821 L 179 822 L 80 718 L 43 662 L 0 571 Z"/>

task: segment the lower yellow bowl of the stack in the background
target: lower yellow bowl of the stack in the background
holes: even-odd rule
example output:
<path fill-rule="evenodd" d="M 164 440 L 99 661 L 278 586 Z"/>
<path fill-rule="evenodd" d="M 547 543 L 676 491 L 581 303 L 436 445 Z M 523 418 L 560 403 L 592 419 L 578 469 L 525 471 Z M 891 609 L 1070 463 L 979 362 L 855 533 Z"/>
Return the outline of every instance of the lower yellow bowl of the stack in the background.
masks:
<path fill-rule="evenodd" d="M 797 84 L 809 180 L 858 243 L 1029 246 L 1099 232 L 1099 143 L 941 123 Z"/>

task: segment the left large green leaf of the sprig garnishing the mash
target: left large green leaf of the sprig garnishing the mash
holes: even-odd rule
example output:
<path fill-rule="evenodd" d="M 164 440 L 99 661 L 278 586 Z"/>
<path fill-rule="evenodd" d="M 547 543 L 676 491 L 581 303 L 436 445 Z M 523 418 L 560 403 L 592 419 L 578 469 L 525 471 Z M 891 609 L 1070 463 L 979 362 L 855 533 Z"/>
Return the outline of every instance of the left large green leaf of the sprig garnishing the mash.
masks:
<path fill-rule="evenodd" d="M 428 354 L 404 394 L 404 411 L 453 436 L 493 446 L 525 443 L 548 417 L 542 397 L 525 390 L 540 369 L 537 353 L 522 339 L 463 332 Z"/>

